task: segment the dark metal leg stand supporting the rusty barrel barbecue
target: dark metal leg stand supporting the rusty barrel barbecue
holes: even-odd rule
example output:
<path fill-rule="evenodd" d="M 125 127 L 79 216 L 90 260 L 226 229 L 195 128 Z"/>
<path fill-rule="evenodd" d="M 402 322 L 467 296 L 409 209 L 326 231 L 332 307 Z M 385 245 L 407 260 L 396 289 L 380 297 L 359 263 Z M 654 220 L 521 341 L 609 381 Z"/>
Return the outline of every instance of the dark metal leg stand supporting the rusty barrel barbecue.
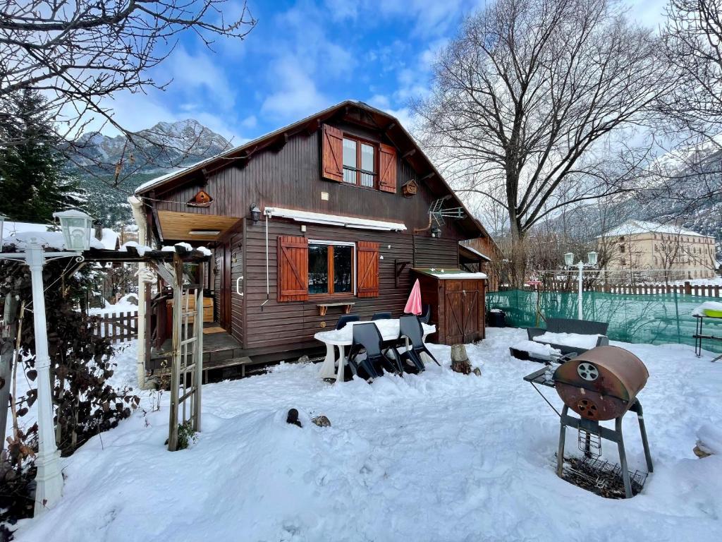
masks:
<path fill-rule="evenodd" d="M 637 420 L 639 421 L 639 431 L 642 435 L 642 446 L 644 448 L 644 457 L 647 462 L 648 472 L 653 472 L 654 468 L 652 465 L 652 456 L 649 452 L 649 442 L 647 440 L 647 431 L 644 426 L 644 416 L 642 412 L 641 403 L 635 399 L 634 403 L 628 411 L 637 413 Z M 576 416 L 569 416 L 569 407 L 564 405 L 562 408 L 562 414 L 560 416 L 560 431 L 559 431 L 559 450 L 557 452 L 557 476 L 562 478 L 563 467 L 564 467 L 564 444 L 566 440 L 567 427 L 572 427 L 586 433 L 585 447 L 583 449 L 586 457 L 592 457 L 591 452 L 591 440 L 592 436 L 599 436 L 600 439 L 606 439 L 617 443 L 617 450 L 619 451 L 619 464 L 622 468 L 622 481 L 625 484 L 625 497 L 629 499 L 633 496 L 632 494 L 632 479 L 630 477 L 630 471 L 627 467 L 627 452 L 625 452 L 625 442 L 622 437 L 622 418 L 614 418 L 614 429 L 609 429 L 600 425 L 599 421 L 587 420 L 586 418 L 577 418 Z M 601 447 L 601 443 L 599 444 Z"/>

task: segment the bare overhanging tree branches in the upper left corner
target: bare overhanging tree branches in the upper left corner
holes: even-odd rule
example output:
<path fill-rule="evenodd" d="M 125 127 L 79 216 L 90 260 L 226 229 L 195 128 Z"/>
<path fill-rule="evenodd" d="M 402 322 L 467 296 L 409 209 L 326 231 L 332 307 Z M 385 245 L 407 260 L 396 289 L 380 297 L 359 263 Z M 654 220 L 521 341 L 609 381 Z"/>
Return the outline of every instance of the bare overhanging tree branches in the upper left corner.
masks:
<path fill-rule="evenodd" d="M 224 11 L 235 17 L 226 20 Z M 149 70 L 168 58 L 181 33 L 211 47 L 217 38 L 242 40 L 254 25 L 245 2 L 236 11 L 227 0 L 0 0 L 0 125 L 13 121 L 14 93 L 39 90 L 47 98 L 43 113 L 64 137 L 95 121 L 131 146 L 157 147 L 152 134 L 122 126 L 107 98 L 164 89 L 168 81 L 155 81 Z M 5 136 L 0 129 L 0 145 L 17 143 Z"/>

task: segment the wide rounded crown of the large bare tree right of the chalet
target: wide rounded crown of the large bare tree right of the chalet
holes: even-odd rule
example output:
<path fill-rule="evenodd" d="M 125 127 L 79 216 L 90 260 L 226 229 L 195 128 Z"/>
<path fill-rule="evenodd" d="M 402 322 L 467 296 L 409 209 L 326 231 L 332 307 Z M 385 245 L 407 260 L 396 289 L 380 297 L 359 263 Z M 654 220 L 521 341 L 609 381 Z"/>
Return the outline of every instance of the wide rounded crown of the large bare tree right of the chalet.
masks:
<path fill-rule="evenodd" d="M 466 20 L 414 104 L 441 168 L 505 209 L 516 241 L 567 205 L 630 190 L 645 158 L 623 141 L 614 152 L 613 136 L 649 121 L 673 77 L 616 5 L 497 0 Z"/>

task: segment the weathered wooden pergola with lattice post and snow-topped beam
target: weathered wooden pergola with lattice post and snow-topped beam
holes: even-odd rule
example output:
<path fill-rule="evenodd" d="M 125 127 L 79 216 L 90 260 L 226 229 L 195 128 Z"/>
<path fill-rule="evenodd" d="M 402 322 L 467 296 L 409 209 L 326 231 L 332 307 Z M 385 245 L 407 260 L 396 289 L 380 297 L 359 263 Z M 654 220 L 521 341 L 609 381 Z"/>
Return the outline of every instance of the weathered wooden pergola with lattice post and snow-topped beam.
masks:
<path fill-rule="evenodd" d="M 86 262 L 122 262 L 145 264 L 173 288 L 173 349 L 170 356 L 170 417 L 168 423 L 168 449 L 178 447 L 178 428 L 190 423 L 193 431 L 201 431 L 201 384 L 203 382 L 203 283 L 204 262 L 209 255 L 198 249 L 188 250 L 175 245 L 175 250 L 138 250 L 126 246 L 125 251 L 90 249 L 84 251 Z M 198 283 L 183 284 L 183 264 L 199 266 Z M 146 284 L 145 288 L 150 288 Z M 183 291 L 187 291 L 183 303 Z M 193 296 L 195 305 L 190 306 Z M 149 296 L 147 296 L 149 297 Z M 193 319 L 195 325 L 189 326 Z M 144 326 L 147 334 L 150 319 L 146 314 Z M 191 330 L 192 329 L 192 330 Z M 180 417 L 179 417 L 180 416 Z"/>

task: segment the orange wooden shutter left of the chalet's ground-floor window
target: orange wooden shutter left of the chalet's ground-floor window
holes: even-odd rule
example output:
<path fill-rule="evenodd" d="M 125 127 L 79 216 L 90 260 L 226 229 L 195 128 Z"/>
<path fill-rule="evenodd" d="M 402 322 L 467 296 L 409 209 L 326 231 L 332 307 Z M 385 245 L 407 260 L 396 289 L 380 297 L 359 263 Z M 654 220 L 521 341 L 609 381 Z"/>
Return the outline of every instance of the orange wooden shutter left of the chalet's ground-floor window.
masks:
<path fill-rule="evenodd" d="M 278 301 L 308 299 L 308 239 L 278 237 Z"/>

